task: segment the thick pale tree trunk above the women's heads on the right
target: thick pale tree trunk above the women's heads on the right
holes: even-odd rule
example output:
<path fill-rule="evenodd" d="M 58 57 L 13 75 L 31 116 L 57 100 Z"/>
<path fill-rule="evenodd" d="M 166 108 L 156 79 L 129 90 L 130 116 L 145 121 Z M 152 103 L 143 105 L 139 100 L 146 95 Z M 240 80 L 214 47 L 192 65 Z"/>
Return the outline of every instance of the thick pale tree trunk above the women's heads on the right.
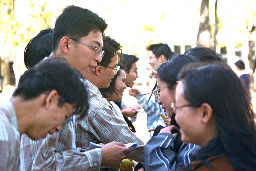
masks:
<path fill-rule="evenodd" d="M 213 48 L 211 25 L 209 19 L 209 0 L 202 0 L 200 9 L 200 25 L 197 34 L 197 46 Z"/>

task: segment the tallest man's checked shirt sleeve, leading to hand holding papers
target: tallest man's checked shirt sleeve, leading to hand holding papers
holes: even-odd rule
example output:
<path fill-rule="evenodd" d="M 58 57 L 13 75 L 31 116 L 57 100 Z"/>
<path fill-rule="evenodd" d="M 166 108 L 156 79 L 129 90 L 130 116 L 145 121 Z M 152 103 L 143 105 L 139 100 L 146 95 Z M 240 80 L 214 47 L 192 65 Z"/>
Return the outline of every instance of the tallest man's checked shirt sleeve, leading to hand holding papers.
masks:
<path fill-rule="evenodd" d="M 81 152 L 75 146 L 72 123 L 65 125 L 42 143 L 32 165 L 32 170 L 100 170 L 101 151 Z"/>

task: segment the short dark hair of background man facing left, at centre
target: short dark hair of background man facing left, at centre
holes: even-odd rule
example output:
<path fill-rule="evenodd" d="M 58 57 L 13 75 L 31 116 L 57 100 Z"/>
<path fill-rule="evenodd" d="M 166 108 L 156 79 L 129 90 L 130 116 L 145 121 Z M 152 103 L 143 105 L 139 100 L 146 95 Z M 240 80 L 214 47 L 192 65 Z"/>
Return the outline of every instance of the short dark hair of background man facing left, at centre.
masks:
<path fill-rule="evenodd" d="M 152 51 L 156 58 L 159 58 L 161 55 L 164 55 L 166 60 L 169 60 L 175 53 L 172 52 L 171 48 L 167 44 L 158 43 L 152 44 L 147 47 L 148 51 Z"/>

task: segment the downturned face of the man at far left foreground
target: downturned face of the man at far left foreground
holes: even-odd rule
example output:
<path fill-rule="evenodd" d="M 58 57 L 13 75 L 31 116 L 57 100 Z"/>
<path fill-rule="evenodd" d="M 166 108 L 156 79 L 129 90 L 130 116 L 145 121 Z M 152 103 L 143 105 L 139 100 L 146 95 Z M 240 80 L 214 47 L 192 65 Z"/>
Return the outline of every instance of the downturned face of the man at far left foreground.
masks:
<path fill-rule="evenodd" d="M 65 103 L 59 106 L 59 98 L 59 95 L 56 95 L 48 105 L 36 111 L 33 124 L 25 132 L 31 139 L 38 140 L 48 134 L 59 132 L 64 120 L 72 115 L 75 105 Z"/>

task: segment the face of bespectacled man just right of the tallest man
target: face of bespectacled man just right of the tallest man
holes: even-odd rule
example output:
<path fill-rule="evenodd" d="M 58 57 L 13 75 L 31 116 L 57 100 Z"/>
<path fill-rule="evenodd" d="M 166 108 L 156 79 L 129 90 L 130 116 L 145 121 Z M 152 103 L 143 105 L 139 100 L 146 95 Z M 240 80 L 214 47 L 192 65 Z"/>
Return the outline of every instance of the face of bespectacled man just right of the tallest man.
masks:
<path fill-rule="evenodd" d="M 111 62 L 108 64 L 108 66 L 111 68 L 100 66 L 99 79 L 101 80 L 101 87 L 98 87 L 98 88 L 108 88 L 109 87 L 109 85 L 111 83 L 111 79 L 114 78 L 114 76 L 117 73 L 117 71 L 113 69 L 116 67 L 117 63 L 118 63 L 118 56 L 115 55 L 114 57 L 112 57 Z"/>

